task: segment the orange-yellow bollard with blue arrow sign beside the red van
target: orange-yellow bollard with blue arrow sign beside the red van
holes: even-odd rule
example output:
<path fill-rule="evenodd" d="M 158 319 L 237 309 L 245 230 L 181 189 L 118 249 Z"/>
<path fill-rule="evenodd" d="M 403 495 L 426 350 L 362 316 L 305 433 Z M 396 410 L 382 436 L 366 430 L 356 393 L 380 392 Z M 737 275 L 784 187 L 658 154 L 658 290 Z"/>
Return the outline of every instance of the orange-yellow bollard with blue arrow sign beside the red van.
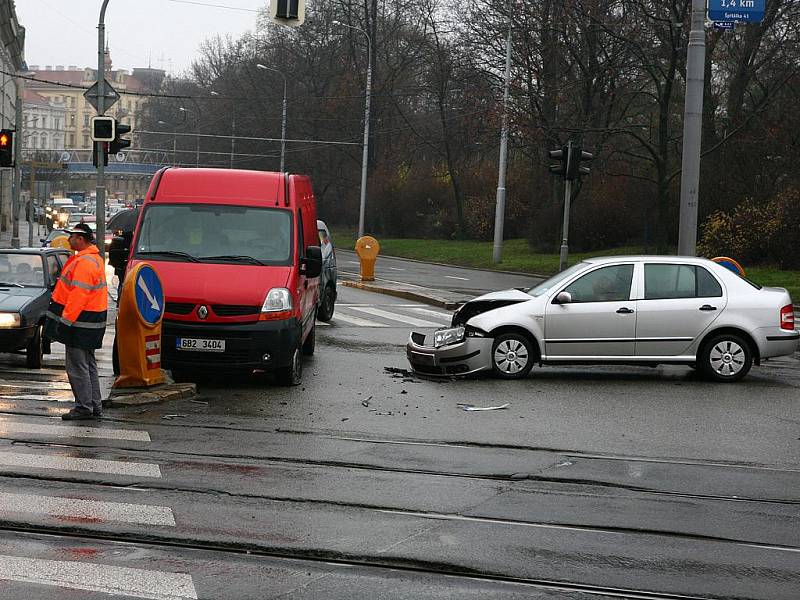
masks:
<path fill-rule="evenodd" d="M 164 383 L 161 371 L 161 317 L 164 288 L 152 266 L 139 263 L 127 274 L 117 312 L 120 375 L 113 389 Z"/>

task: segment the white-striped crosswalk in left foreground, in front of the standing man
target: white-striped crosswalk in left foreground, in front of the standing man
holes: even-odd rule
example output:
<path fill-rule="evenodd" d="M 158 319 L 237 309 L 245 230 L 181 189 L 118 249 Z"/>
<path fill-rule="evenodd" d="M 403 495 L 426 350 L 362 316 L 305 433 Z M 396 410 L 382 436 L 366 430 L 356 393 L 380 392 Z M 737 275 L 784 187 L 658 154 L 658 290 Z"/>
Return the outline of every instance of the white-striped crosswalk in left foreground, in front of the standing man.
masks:
<path fill-rule="evenodd" d="M 11 443 L 0 446 L 0 481 L 8 485 L 0 489 L 0 521 L 24 520 L 28 527 L 51 524 L 111 523 L 138 527 L 167 527 L 179 525 L 169 506 L 116 502 L 101 498 L 96 488 L 76 494 L 74 488 L 58 494 L 59 485 L 48 484 L 45 493 L 37 482 L 48 472 L 58 472 L 59 479 L 81 477 L 105 481 L 111 476 L 123 478 L 159 479 L 161 467 L 155 463 L 135 460 L 104 460 L 80 456 L 74 445 L 82 440 L 106 440 L 128 445 L 151 442 L 150 433 L 116 426 L 60 424 L 52 418 L 23 415 L 0 415 L 0 438 Z M 57 444 L 41 445 L 39 450 L 18 451 L 14 442 L 37 441 Z M 62 444 L 72 446 L 65 450 Z M 30 479 L 28 479 L 30 478 Z M 82 488 L 79 488 L 82 489 Z M 105 492 L 107 493 L 107 492 Z M 92 553 L 83 559 L 52 560 L 48 554 L 0 554 L 0 588 L 2 582 L 19 586 L 48 586 L 62 590 L 59 594 L 97 592 L 114 597 L 149 598 L 152 600 L 194 600 L 197 591 L 192 576 L 164 570 L 139 569 L 92 562 Z M 32 588 L 34 589 L 34 588 Z M 2 590 L 0 589 L 0 596 Z M 38 597 L 38 596 L 37 596 Z M 73 597 L 70 595 L 70 597 Z M 75 595 L 79 597 L 79 595 Z"/>

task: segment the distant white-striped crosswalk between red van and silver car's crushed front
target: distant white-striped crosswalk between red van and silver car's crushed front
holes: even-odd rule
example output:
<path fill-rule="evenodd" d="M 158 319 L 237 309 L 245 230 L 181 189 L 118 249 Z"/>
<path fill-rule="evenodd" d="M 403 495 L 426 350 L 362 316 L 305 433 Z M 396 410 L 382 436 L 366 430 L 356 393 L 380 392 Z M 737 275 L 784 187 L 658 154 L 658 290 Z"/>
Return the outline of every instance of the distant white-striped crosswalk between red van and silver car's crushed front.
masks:
<path fill-rule="evenodd" d="M 329 323 L 317 321 L 322 327 L 446 327 L 453 314 L 435 310 L 425 304 L 336 304 Z"/>

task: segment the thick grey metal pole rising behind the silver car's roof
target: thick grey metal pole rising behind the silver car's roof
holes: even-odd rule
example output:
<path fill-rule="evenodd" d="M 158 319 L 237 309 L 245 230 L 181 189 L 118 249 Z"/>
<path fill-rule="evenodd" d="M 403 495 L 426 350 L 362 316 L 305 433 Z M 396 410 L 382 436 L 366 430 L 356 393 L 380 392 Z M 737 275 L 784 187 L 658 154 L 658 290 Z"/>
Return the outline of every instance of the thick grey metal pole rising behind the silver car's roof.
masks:
<path fill-rule="evenodd" d="M 697 205 L 700 192 L 700 143 L 703 129 L 703 85 L 706 62 L 705 0 L 692 0 L 692 29 L 686 56 L 686 96 L 683 108 L 681 211 L 678 254 L 697 253 Z"/>

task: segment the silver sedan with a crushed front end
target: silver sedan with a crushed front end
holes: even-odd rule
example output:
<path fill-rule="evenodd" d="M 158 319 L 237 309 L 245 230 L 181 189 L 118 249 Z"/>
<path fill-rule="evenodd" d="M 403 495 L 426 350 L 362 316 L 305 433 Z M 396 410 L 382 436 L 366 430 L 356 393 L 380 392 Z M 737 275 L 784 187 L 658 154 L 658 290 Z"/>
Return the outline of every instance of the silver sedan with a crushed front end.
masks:
<path fill-rule="evenodd" d="M 679 364 L 737 381 L 753 363 L 797 351 L 783 288 L 703 258 L 615 256 L 576 264 L 529 290 L 464 304 L 452 326 L 412 332 L 414 371 L 526 377 L 543 364 Z"/>

